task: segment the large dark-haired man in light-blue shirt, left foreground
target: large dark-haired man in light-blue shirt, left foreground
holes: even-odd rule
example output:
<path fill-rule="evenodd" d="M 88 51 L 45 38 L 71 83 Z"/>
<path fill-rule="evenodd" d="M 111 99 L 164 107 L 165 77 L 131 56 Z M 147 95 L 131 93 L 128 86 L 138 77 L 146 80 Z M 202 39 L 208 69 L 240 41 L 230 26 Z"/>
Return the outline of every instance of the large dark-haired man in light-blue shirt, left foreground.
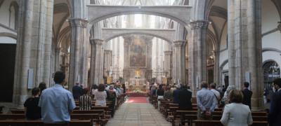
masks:
<path fill-rule="evenodd" d="M 72 93 L 63 88 L 65 73 L 55 72 L 55 85 L 44 90 L 39 100 L 43 123 L 68 125 L 70 113 L 76 107 Z"/>

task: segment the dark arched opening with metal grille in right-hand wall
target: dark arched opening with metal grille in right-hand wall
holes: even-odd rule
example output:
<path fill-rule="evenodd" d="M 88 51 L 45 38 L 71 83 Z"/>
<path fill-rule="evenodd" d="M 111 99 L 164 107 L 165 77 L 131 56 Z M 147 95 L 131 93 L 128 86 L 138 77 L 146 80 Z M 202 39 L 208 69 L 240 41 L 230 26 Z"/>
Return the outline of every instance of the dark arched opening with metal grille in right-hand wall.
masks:
<path fill-rule="evenodd" d="M 268 61 L 263 64 L 264 87 L 270 87 L 275 78 L 280 78 L 280 66 L 275 61 Z"/>

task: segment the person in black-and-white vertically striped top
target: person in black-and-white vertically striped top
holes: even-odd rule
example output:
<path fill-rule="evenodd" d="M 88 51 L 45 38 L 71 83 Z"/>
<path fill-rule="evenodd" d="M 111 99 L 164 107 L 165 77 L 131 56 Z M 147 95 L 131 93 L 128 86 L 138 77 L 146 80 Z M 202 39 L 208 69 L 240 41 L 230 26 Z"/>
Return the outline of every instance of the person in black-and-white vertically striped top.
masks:
<path fill-rule="evenodd" d="M 84 88 L 83 95 L 79 97 L 79 110 L 91 110 L 92 99 L 87 93 L 88 89 Z"/>

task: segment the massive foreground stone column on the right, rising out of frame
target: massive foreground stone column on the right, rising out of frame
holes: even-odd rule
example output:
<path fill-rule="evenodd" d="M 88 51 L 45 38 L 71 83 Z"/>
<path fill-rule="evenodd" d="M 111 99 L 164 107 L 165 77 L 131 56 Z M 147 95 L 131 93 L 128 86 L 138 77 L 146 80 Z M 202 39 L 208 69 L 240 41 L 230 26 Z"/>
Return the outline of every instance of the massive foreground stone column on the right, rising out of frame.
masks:
<path fill-rule="evenodd" d="M 228 0 L 229 84 L 249 81 L 251 108 L 263 109 L 261 0 Z"/>

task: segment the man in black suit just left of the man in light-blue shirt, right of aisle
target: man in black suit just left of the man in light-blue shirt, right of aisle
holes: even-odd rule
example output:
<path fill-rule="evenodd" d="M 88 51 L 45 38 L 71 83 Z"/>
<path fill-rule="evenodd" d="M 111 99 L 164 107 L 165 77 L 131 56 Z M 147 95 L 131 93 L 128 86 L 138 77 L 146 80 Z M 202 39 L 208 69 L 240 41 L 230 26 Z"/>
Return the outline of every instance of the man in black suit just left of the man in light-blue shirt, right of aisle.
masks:
<path fill-rule="evenodd" d="M 188 85 L 183 85 L 183 90 L 178 92 L 178 106 L 181 110 L 191 110 L 192 93 L 188 90 Z"/>

